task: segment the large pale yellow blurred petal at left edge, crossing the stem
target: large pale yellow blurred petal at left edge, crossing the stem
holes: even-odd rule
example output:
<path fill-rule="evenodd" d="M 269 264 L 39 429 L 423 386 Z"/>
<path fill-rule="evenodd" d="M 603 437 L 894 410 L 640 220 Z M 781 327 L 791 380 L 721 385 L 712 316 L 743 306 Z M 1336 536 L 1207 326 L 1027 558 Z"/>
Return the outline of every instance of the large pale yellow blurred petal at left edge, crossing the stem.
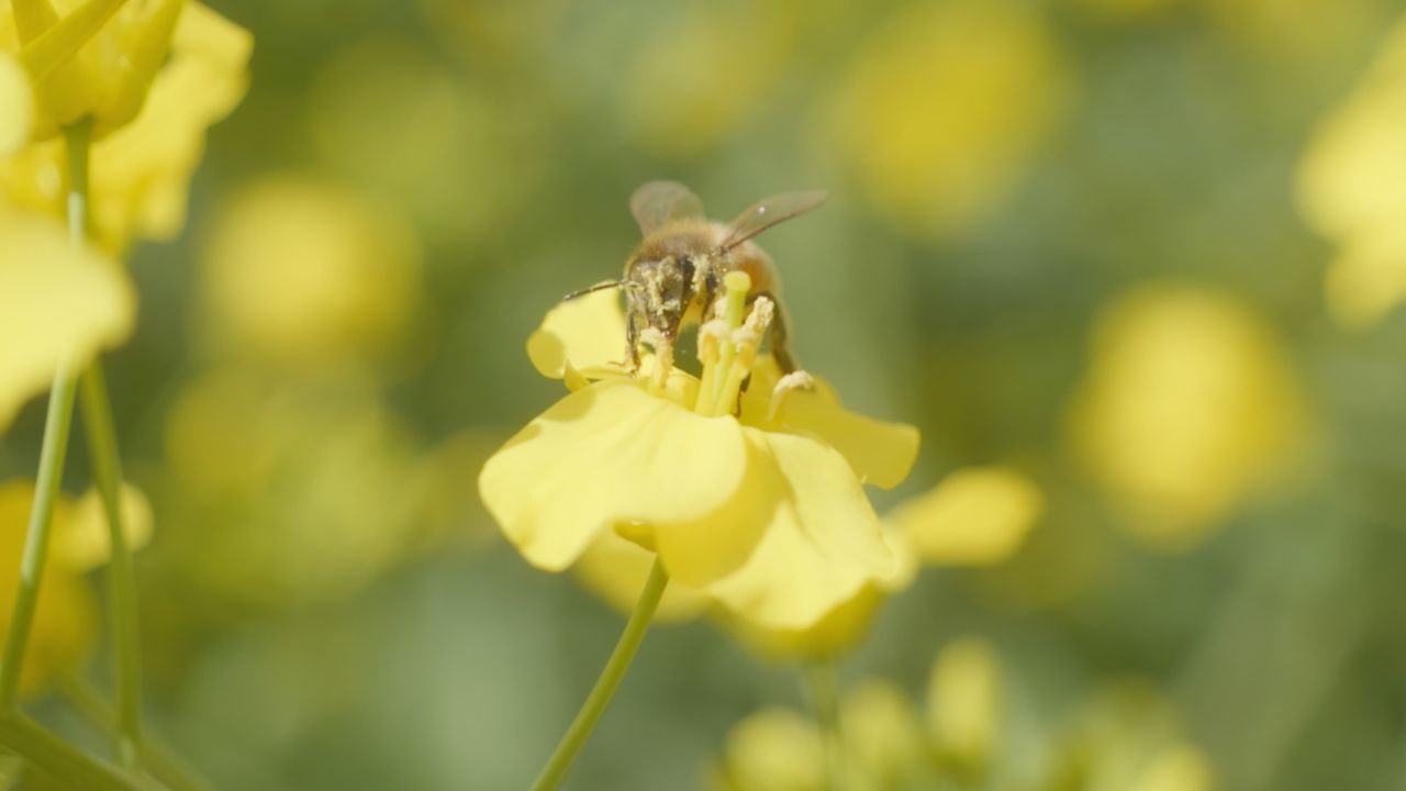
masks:
<path fill-rule="evenodd" d="M 53 221 L 0 211 L 0 429 L 45 391 L 60 360 L 82 365 L 132 331 L 135 297 L 112 262 L 75 249 Z"/>

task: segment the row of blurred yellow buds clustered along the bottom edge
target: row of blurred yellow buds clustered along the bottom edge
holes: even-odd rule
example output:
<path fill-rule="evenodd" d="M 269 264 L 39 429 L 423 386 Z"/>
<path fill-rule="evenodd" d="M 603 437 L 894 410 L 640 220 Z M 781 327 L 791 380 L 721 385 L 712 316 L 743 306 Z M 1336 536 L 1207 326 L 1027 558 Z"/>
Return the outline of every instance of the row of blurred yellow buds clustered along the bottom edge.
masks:
<path fill-rule="evenodd" d="M 862 678 L 839 702 L 839 738 L 769 707 L 737 723 L 709 770 L 717 791 L 846 788 L 1088 788 L 1209 791 L 1212 768 L 1146 684 L 1115 683 L 1076 711 L 1017 721 L 995 647 L 960 638 L 928 673 L 922 705 L 897 684 Z M 828 745 L 827 745 L 828 742 Z"/>

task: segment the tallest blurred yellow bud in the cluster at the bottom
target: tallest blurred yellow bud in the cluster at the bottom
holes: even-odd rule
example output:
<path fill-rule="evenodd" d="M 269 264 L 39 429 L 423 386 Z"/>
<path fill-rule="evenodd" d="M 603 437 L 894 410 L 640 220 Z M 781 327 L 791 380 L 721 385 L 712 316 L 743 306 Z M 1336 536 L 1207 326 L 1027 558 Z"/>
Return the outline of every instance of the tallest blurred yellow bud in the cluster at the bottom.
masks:
<path fill-rule="evenodd" d="M 928 733 L 939 752 L 969 767 L 984 767 L 1001 726 L 1001 666 L 987 642 L 953 640 L 928 676 Z"/>

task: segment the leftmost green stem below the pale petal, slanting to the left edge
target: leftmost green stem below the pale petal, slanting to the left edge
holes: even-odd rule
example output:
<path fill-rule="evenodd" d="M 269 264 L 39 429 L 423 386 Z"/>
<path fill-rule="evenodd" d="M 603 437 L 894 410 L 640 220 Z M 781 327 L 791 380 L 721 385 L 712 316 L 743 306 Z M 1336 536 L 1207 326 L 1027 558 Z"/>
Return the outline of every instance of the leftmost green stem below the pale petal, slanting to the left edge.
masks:
<path fill-rule="evenodd" d="M 20 676 L 25 650 L 30 647 L 30 631 L 34 628 L 34 609 L 39 604 L 39 583 L 44 580 L 44 566 L 49 557 L 53 504 L 59 497 L 63 456 L 73 422 L 73 373 L 67 362 L 59 363 L 59 370 L 53 374 L 48 410 L 34 504 L 30 507 L 30 528 L 20 559 L 20 590 L 10 611 L 10 629 L 6 632 L 4 654 L 0 659 L 0 716 L 14 712 L 18 702 Z"/>

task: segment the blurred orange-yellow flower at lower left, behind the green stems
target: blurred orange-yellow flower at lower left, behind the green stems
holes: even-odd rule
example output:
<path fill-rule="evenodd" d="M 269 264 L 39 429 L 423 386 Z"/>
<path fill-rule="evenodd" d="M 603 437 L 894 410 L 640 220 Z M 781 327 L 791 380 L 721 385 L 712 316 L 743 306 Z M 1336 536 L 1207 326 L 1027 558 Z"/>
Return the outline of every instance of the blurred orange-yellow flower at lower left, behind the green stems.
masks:
<path fill-rule="evenodd" d="M 0 484 L 0 633 L 8 626 L 14 595 L 20 584 L 20 556 L 34 501 L 34 484 L 11 480 Z M 150 535 L 150 515 L 141 512 L 145 497 L 135 487 L 124 487 L 124 502 L 132 548 Z M 101 515 L 98 495 L 90 491 L 75 505 L 60 498 L 55 507 L 53 535 L 48 566 L 39 588 L 39 604 L 30 647 L 25 654 L 20 691 L 42 692 L 58 677 L 82 667 L 97 639 L 97 611 L 83 571 L 107 563 L 107 519 Z"/>

